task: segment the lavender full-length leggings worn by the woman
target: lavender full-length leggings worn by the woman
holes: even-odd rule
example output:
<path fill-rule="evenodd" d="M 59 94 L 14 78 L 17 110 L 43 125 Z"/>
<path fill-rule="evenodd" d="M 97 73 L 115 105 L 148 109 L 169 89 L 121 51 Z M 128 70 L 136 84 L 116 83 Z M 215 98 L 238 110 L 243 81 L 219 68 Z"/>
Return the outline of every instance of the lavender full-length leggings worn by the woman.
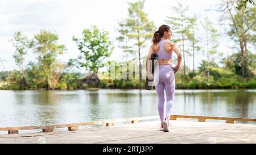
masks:
<path fill-rule="evenodd" d="M 160 121 L 163 122 L 164 118 L 170 118 L 174 104 L 175 77 L 171 65 L 159 65 L 159 69 L 155 70 L 154 83 L 158 95 Z M 164 90 L 166 90 L 166 111 L 164 111 Z"/>

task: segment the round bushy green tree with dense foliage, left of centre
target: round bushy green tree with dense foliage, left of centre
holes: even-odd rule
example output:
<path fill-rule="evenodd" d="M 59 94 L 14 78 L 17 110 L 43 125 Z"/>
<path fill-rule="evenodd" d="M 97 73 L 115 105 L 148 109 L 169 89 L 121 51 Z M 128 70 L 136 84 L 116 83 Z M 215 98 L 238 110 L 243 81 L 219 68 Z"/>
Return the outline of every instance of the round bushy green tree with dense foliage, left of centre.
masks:
<path fill-rule="evenodd" d="M 81 39 L 73 36 L 73 41 L 77 44 L 81 54 L 73 62 L 78 62 L 81 67 L 93 73 L 97 73 L 102 60 L 109 57 L 114 49 L 112 41 L 109 40 L 109 32 L 100 30 L 97 26 L 82 31 Z"/>

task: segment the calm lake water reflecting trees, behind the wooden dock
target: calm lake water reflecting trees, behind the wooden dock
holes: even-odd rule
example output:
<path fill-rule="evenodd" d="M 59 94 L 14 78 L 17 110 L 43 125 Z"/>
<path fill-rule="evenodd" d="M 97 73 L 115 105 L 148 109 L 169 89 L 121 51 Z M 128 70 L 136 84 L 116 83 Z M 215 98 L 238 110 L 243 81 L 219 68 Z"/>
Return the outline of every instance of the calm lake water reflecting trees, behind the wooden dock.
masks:
<path fill-rule="evenodd" d="M 0 127 L 158 115 L 155 90 L 0 90 Z M 256 90 L 176 90 L 174 115 L 256 118 Z"/>

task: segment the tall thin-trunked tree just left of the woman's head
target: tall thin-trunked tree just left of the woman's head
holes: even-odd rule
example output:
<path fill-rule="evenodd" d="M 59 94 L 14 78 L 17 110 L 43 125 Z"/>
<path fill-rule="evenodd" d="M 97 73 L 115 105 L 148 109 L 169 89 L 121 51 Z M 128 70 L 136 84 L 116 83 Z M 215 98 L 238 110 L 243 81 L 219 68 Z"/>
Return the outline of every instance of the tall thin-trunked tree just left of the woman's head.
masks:
<path fill-rule="evenodd" d="M 153 36 L 152 31 L 155 30 L 154 22 L 150 22 L 144 9 L 144 2 L 128 2 L 128 18 L 124 19 L 123 30 L 127 30 L 126 36 L 129 37 L 131 43 L 138 47 L 139 56 L 139 79 L 142 80 L 141 51 L 146 47 L 146 40 Z"/>

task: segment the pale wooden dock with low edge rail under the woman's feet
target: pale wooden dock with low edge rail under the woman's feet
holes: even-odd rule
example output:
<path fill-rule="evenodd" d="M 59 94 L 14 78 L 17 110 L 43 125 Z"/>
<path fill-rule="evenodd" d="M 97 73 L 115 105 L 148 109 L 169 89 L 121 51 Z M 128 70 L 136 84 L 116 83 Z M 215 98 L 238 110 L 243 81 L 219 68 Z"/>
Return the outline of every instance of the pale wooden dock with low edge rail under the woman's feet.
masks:
<path fill-rule="evenodd" d="M 198 119 L 199 122 L 176 119 L 191 117 Z M 115 125 L 112 122 L 108 126 L 76 128 L 75 131 L 2 134 L 0 143 L 256 143 L 256 124 L 234 123 L 233 120 L 238 118 L 228 118 L 227 121 L 227 118 L 223 117 L 209 119 L 222 119 L 226 120 L 226 123 L 208 122 L 206 121 L 208 118 L 204 117 L 207 116 L 172 115 L 170 132 L 160 131 L 159 121 L 138 123 L 138 118 L 129 124 Z M 150 119 L 150 117 L 143 119 L 145 118 Z M 255 121 L 255 119 L 239 119 Z"/>

